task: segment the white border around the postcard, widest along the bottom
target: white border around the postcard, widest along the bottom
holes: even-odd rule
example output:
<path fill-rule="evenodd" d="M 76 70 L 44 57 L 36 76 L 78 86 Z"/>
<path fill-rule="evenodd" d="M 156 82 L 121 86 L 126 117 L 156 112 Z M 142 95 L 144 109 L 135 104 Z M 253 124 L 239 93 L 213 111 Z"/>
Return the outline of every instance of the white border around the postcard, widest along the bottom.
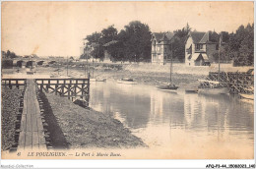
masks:
<path fill-rule="evenodd" d="M 14 0 L 1 0 L 1 2 L 3 1 L 14 1 Z M 15 1 L 25 1 L 25 0 L 15 0 Z M 32 1 L 32 0 L 27 0 L 27 1 Z M 47 1 L 47 0 L 35 0 L 35 1 Z M 55 0 L 55 1 L 65 1 L 65 0 Z M 90 1 L 90 0 L 76 0 L 76 1 Z M 96 0 L 96 1 L 104 1 L 104 0 Z M 108 0 L 108 1 L 117 1 L 117 0 Z M 135 1 L 135 0 L 126 0 L 126 1 Z M 141 0 L 141 1 L 153 1 L 153 0 Z M 164 0 L 158 0 L 158 1 L 164 1 Z M 191 0 L 181 0 L 181 1 L 191 1 Z M 204 0 L 197 0 L 197 1 L 204 1 Z M 215 1 L 222 1 L 222 0 L 215 0 Z M 239 0 L 225 0 L 225 1 L 239 1 Z M 255 2 L 255 0 L 248 0 L 248 1 Z M 256 5 L 254 3 L 254 10 L 255 9 L 256 9 Z M 0 9 L 0 18 L 1 18 L 1 14 L 2 13 Z M 254 11 L 254 23 L 255 23 L 255 17 L 256 15 Z M 2 25 L 2 23 L 0 25 Z M 254 32 L 255 32 L 255 29 L 256 28 L 254 27 Z M 256 37 L 254 35 L 254 53 L 256 53 L 255 40 L 256 40 Z M 0 41 L 0 46 L 1 46 L 1 41 Z M 255 65 L 256 64 L 254 59 L 254 66 Z M 254 79 L 255 77 L 256 76 L 254 75 Z M 256 86 L 256 84 L 254 85 Z M 256 126 L 255 110 L 256 108 L 254 106 L 254 127 Z M 1 121 L 0 121 L 0 125 L 1 125 Z M 0 143 L 1 143 L 1 140 L 0 140 Z M 172 159 L 169 159 L 169 160 L 86 160 L 86 159 L 85 160 L 81 160 L 81 159 L 77 159 L 77 160 L 3 160 L 3 159 L 0 159 L 0 164 L 1 166 L 4 165 L 4 166 L 7 166 L 8 168 L 31 168 L 29 166 L 27 167 L 27 165 L 32 165 L 32 168 L 112 168 L 112 169 L 113 168 L 206 168 L 208 164 L 214 164 L 214 165 L 225 164 L 226 166 L 228 166 L 229 164 L 246 164 L 248 167 L 250 164 L 255 164 L 255 155 L 256 153 L 255 153 L 255 131 L 254 131 L 254 159 L 252 160 L 172 160 Z M 218 168 L 218 166 L 215 168 Z M 222 168 L 222 167 L 219 167 L 219 168 Z"/>

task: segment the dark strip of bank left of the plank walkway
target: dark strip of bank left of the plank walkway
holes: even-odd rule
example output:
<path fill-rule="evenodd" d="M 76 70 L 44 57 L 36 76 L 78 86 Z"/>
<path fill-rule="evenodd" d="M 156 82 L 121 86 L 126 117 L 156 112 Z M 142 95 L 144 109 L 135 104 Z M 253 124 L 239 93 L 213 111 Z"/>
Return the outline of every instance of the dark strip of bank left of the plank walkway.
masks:
<path fill-rule="evenodd" d="M 15 121 L 21 95 L 21 89 L 2 87 L 2 150 L 8 150 L 15 143 Z"/>

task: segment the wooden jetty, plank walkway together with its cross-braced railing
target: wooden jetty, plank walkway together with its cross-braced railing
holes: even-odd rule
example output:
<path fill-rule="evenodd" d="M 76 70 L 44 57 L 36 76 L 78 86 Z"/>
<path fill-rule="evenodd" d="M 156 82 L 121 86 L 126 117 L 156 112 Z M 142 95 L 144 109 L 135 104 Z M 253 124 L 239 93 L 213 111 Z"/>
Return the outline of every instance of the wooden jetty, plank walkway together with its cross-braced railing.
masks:
<path fill-rule="evenodd" d="M 68 98 L 89 100 L 89 79 L 2 79 L 2 86 L 24 89 L 17 115 L 16 134 L 12 149 L 47 148 L 48 133 L 44 128 L 44 110 L 40 106 L 37 91 L 54 92 Z"/>

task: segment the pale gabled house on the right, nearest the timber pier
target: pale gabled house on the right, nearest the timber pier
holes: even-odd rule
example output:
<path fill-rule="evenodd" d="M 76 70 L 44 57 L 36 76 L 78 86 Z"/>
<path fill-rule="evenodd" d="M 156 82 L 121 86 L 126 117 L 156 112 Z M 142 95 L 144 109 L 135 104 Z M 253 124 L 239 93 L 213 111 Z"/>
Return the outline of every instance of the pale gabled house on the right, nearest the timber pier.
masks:
<path fill-rule="evenodd" d="M 219 38 L 215 31 L 191 31 L 185 44 L 185 64 L 210 65 L 214 61 L 213 55 L 219 51 Z"/>

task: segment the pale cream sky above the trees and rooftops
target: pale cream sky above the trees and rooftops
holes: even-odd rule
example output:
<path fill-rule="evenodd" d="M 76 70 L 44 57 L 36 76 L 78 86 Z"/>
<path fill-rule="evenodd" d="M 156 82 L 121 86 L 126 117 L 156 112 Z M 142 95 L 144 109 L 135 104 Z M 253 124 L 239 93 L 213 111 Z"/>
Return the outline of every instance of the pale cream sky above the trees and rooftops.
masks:
<path fill-rule="evenodd" d="M 2 2 L 2 50 L 18 55 L 79 56 L 83 38 L 131 21 L 152 32 L 232 32 L 254 21 L 253 2 Z"/>

